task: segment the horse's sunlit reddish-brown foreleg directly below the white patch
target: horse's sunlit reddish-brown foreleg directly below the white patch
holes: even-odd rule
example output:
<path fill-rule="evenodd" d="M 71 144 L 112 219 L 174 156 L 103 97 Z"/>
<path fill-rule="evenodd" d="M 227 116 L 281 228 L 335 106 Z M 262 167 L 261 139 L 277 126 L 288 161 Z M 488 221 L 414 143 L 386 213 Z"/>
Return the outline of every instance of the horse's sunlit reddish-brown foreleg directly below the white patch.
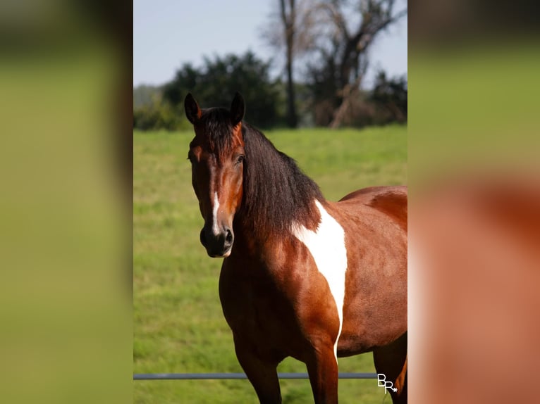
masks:
<path fill-rule="evenodd" d="M 306 365 L 315 403 L 338 403 L 338 361 L 333 346 L 326 344 L 314 348 L 314 355 Z"/>

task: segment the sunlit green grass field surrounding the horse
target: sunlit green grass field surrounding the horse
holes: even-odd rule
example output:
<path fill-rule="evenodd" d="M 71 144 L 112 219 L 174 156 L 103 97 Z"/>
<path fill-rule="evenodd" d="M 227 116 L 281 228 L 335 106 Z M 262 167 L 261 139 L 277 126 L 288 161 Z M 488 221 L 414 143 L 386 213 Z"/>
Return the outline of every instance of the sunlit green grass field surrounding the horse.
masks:
<path fill-rule="evenodd" d="M 218 296 L 220 259 L 200 245 L 202 217 L 186 160 L 192 132 L 135 132 L 133 145 L 133 372 L 242 372 Z M 329 200 L 407 182 L 407 129 L 276 130 Z M 340 358 L 340 372 L 374 372 L 372 355 Z M 287 359 L 279 372 L 305 372 Z M 134 403 L 257 403 L 247 380 L 134 381 Z M 283 403 L 312 403 L 307 380 L 281 381 Z M 340 380 L 340 403 L 377 403 L 374 380 Z M 391 402 L 390 397 L 386 402 Z"/>

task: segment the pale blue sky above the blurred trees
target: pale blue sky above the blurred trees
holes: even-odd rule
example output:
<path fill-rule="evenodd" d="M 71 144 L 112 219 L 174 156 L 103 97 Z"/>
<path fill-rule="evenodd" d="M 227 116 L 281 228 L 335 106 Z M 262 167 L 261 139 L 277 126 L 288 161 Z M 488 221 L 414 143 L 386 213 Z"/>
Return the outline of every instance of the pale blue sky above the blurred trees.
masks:
<path fill-rule="evenodd" d="M 204 56 L 253 51 L 276 58 L 260 32 L 277 0 L 135 0 L 133 2 L 133 85 L 164 84 L 183 63 L 202 65 Z M 396 1 L 397 10 L 406 0 Z M 283 60 L 283 58 L 277 59 Z M 364 87 L 376 70 L 389 76 L 407 73 L 407 18 L 380 34 L 371 49 Z M 274 63 L 275 77 L 282 66 Z"/>

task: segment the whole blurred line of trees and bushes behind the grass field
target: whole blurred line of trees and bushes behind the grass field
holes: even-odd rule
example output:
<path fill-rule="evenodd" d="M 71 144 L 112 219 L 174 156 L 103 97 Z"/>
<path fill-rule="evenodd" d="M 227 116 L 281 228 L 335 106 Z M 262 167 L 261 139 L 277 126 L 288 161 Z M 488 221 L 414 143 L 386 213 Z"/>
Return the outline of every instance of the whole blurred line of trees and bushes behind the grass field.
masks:
<path fill-rule="evenodd" d="M 252 51 L 185 63 L 171 82 L 134 89 L 133 125 L 140 130 L 187 127 L 183 99 L 228 106 L 243 94 L 245 119 L 262 128 L 383 125 L 407 120 L 407 79 L 379 71 L 363 89 L 369 49 L 378 35 L 406 15 L 395 0 L 279 0 L 263 30 L 283 63 L 272 79 L 270 61 Z M 280 27 L 280 29 L 276 29 Z M 281 56 L 281 57 L 280 57 Z"/>

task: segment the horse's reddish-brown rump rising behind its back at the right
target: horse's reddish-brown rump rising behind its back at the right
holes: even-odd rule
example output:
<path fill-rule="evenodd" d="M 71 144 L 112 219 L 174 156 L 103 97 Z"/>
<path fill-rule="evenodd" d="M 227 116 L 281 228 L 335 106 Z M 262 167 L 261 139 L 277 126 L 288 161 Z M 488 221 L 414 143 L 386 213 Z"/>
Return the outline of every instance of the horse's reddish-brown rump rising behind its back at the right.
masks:
<path fill-rule="evenodd" d="M 369 187 L 351 192 L 339 203 L 369 206 L 393 218 L 407 231 L 407 187 Z"/>

